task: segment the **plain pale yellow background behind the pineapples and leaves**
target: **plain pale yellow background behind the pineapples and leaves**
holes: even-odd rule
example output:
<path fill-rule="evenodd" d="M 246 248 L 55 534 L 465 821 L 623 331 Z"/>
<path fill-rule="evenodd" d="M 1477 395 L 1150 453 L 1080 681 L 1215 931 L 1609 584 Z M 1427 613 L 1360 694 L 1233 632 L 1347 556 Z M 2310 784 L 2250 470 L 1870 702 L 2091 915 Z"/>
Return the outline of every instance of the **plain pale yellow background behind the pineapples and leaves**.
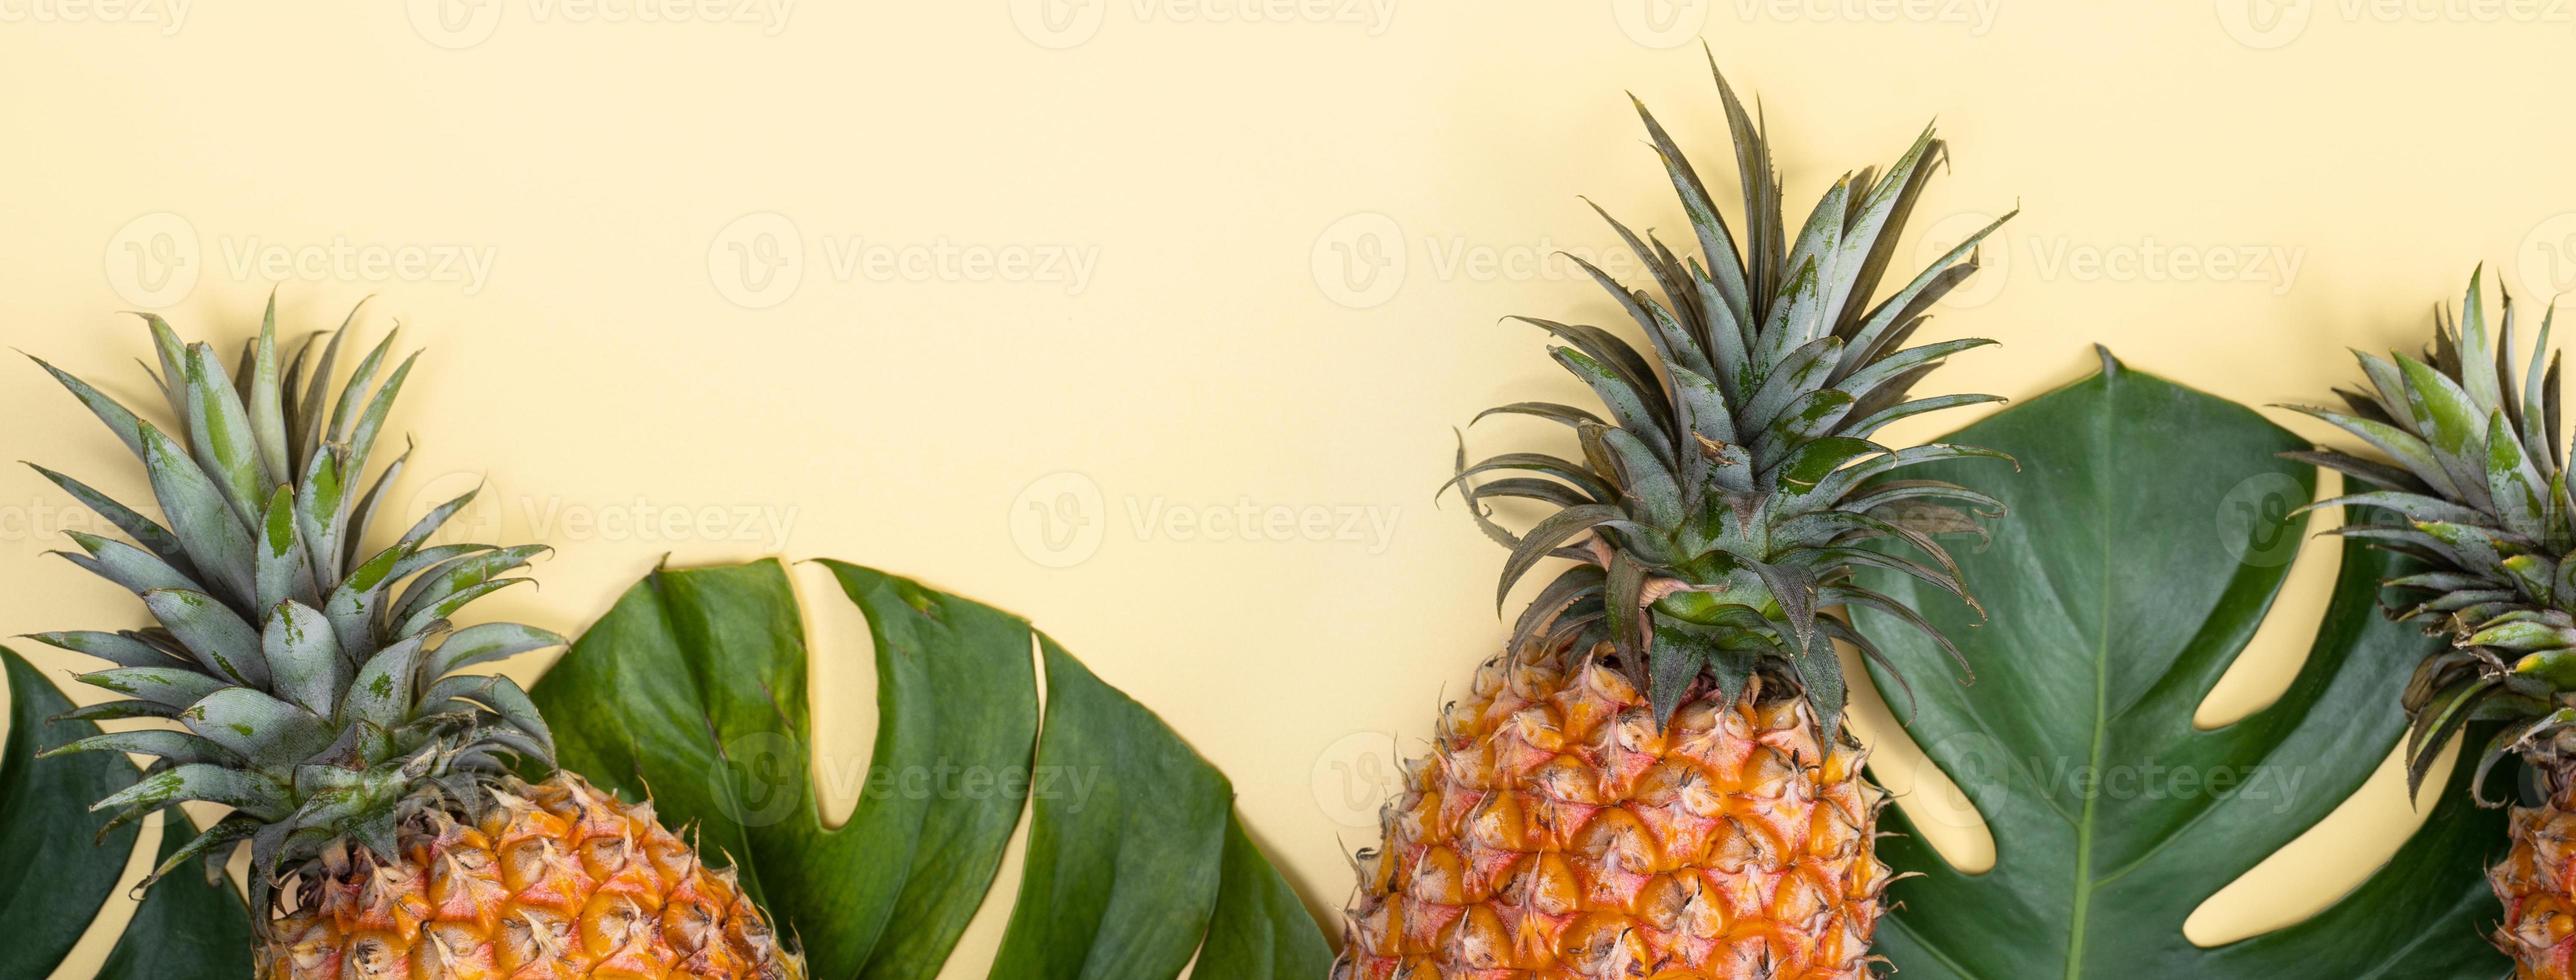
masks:
<path fill-rule="evenodd" d="M 296 330 L 376 294 L 363 322 L 430 351 L 407 511 L 489 480 L 469 521 L 562 549 L 484 616 L 574 632 L 665 557 L 757 554 L 1015 609 L 1231 774 L 1332 908 L 1391 753 L 1502 637 L 1502 552 L 1432 500 L 1450 426 L 1574 397 L 1497 317 L 1615 320 L 1546 260 L 1618 260 L 1577 193 L 1687 240 L 1623 90 L 1731 186 L 1695 39 L 1759 93 L 1795 206 L 1937 116 L 1955 168 L 1909 253 L 2025 209 L 1929 328 L 2004 348 L 1942 389 L 2027 397 L 2102 340 L 2313 400 L 2476 260 L 2576 286 L 2555 3 L 0 0 L 0 340 L 142 395 L 118 309 L 232 340 L 273 286 Z M 70 397 L 0 371 L 0 456 L 142 495 Z M 90 526 L 67 505 L 0 477 L 0 634 L 139 619 L 41 554 Z M 853 784 L 866 637 L 799 575 Z M 2311 549 L 2210 717 L 2277 691 L 2329 578 Z M 2411 820 L 2372 784 L 2300 843 L 2326 872 L 2257 872 L 2195 936 L 2313 910 Z M 981 975 L 1015 869 L 951 975 Z"/>

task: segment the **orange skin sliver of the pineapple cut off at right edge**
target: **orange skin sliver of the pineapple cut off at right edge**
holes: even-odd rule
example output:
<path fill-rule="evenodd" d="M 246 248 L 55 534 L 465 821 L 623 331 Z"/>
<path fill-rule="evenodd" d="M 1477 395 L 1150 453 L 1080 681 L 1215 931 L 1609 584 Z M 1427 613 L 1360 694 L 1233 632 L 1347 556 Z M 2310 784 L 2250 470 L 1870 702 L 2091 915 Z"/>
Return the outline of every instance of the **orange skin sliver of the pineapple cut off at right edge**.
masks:
<path fill-rule="evenodd" d="M 2486 882 L 2504 900 L 2504 923 L 2496 928 L 2496 946 L 2514 957 L 2514 975 L 2524 980 L 2576 977 L 2576 781 L 2566 779 L 2566 766 L 2550 766 L 2561 787 L 2537 807 L 2514 807 L 2509 815 L 2512 848 L 2504 861 L 2486 872 Z"/>

